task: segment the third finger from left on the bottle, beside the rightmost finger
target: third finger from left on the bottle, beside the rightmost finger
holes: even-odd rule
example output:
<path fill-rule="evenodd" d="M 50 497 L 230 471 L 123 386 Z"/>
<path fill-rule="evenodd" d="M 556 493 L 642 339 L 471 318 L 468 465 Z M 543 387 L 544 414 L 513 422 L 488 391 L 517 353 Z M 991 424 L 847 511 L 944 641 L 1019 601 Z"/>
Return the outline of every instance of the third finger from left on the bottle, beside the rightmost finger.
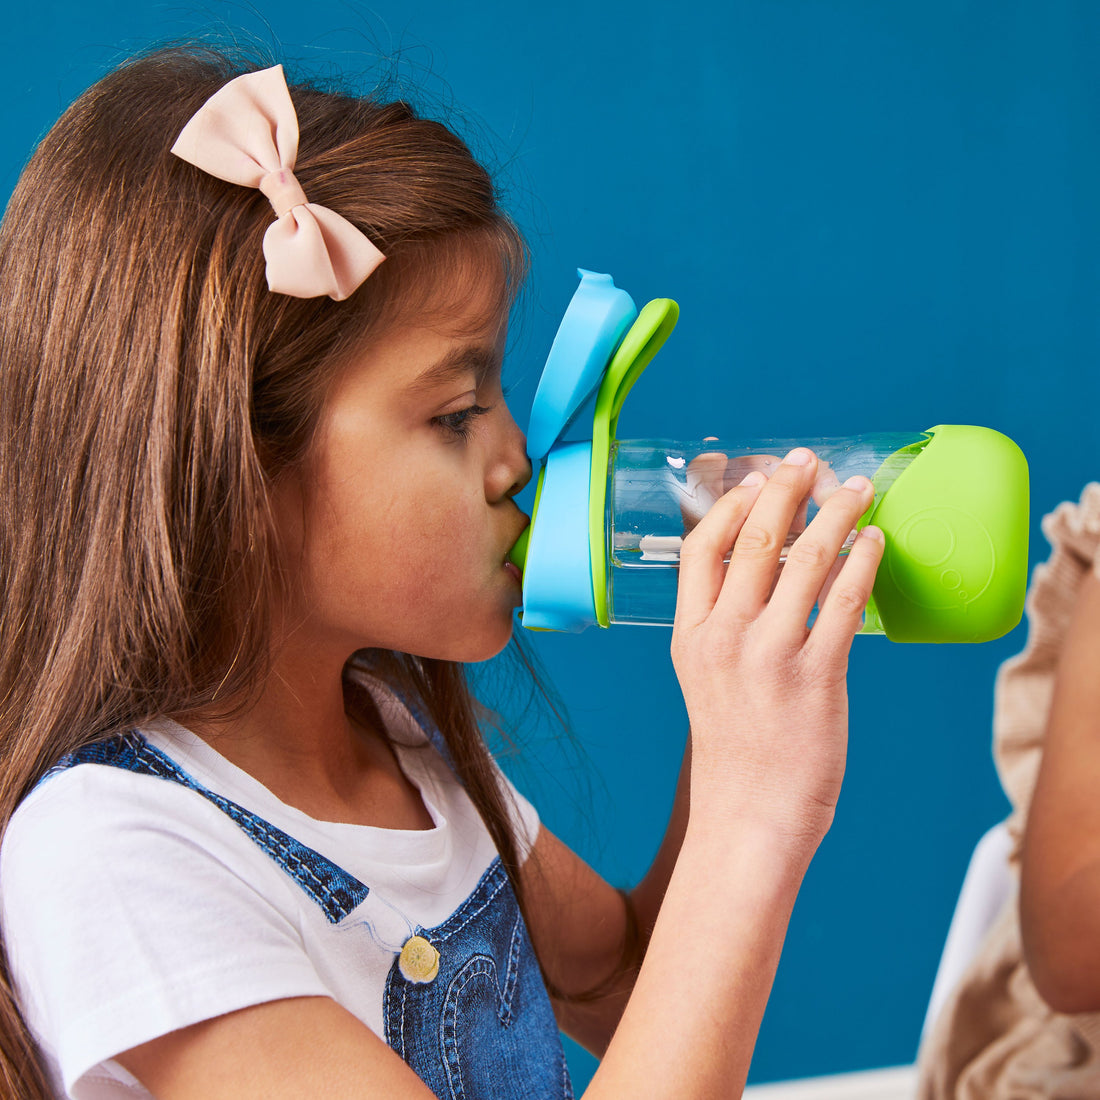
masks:
<path fill-rule="evenodd" d="M 875 498 L 866 477 L 849 477 L 822 506 L 814 521 L 788 551 L 782 574 L 768 604 L 768 614 L 792 631 L 804 635 L 806 619 L 822 598 L 837 556 Z"/>

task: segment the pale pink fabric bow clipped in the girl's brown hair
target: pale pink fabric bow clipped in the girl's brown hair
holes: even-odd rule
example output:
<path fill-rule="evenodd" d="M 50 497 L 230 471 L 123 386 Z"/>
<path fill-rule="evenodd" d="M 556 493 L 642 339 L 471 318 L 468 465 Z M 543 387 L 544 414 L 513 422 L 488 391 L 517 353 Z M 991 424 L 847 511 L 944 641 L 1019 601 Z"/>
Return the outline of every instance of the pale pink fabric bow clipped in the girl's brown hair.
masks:
<path fill-rule="evenodd" d="M 308 201 L 295 178 L 298 116 L 282 65 L 246 73 L 216 91 L 172 152 L 267 196 L 276 220 L 264 234 L 264 258 L 267 287 L 276 294 L 342 301 L 386 258 L 350 221 Z"/>

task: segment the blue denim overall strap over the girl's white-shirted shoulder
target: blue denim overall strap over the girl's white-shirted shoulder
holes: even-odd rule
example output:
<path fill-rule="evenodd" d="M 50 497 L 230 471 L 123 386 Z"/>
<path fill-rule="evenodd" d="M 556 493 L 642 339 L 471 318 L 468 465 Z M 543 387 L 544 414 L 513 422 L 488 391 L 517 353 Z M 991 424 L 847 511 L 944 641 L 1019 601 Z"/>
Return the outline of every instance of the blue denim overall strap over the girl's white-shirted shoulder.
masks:
<path fill-rule="evenodd" d="M 271 856 L 321 908 L 332 924 L 342 921 L 370 893 L 359 879 L 320 853 L 197 782 L 170 757 L 154 748 L 136 732 L 86 745 L 59 760 L 47 774 L 82 763 L 98 763 L 142 776 L 155 776 L 202 795 Z"/>

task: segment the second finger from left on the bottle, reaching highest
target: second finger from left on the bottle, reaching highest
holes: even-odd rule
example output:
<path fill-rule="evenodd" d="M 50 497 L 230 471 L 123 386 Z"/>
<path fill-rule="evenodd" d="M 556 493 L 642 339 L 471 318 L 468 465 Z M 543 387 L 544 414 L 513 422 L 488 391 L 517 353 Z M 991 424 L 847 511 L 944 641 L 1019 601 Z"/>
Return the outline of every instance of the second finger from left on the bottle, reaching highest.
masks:
<path fill-rule="evenodd" d="M 768 603 L 791 524 L 816 472 L 814 453 L 796 447 L 772 474 L 743 521 L 715 605 L 717 612 L 740 623 L 752 622 L 760 615 Z"/>

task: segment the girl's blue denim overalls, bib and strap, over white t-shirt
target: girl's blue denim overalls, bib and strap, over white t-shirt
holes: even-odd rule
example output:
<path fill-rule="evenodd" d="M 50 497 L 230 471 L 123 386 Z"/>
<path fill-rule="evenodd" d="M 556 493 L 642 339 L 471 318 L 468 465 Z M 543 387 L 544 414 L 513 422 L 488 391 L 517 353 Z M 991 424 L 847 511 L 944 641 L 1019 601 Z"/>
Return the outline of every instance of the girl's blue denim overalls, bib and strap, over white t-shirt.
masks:
<path fill-rule="evenodd" d="M 84 763 L 154 776 L 195 791 L 274 859 L 333 925 L 371 892 L 320 853 L 202 787 L 138 733 L 86 746 L 53 770 Z M 501 860 L 493 860 L 442 924 L 417 927 L 415 934 L 438 952 L 438 972 L 410 980 L 400 956 L 394 959 L 383 1003 L 385 1040 L 436 1096 L 572 1100 L 550 999 Z"/>

